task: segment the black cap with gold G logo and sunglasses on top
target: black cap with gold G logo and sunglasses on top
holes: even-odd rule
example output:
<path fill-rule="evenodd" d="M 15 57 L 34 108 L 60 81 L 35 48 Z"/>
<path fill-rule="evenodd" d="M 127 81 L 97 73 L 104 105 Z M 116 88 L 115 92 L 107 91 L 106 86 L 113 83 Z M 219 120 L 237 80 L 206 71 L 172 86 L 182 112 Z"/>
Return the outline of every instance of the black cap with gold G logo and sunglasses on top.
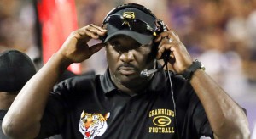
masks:
<path fill-rule="evenodd" d="M 125 27 L 124 25 L 125 21 L 121 22 L 121 24 L 124 27 L 120 29 L 119 27 L 117 27 L 117 25 L 113 25 L 108 22 L 108 19 L 111 19 L 113 16 L 119 16 L 125 19 L 137 19 L 138 21 L 145 23 L 144 25 L 147 25 L 148 30 L 150 29 L 152 32 L 143 33 L 142 31 L 137 31 L 140 25 L 137 25 L 137 29 L 131 30 L 131 28 L 129 28 L 130 27 L 129 25 L 126 25 Z M 136 40 L 141 44 L 148 44 L 148 42 L 153 40 L 155 35 L 154 34 L 154 30 L 156 28 L 156 26 L 154 25 L 155 21 L 156 21 L 155 15 L 152 14 L 148 8 L 145 8 L 139 4 L 130 3 L 130 4 L 121 5 L 117 8 L 113 8 L 113 10 L 107 14 L 107 16 L 103 21 L 103 25 L 106 25 L 106 28 L 108 30 L 107 36 L 105 37 L 105 40 L 103 40 L 103 42 L 108 42 L 108 40 L 111 39 L 113 36 L 125 35 L 125 36 L 130 36 L 131 38 L 133 38 L 134 40 Z M 115 24 L 116 23 L 117 22 L 115 22 Z M 135 23 L 135 25 L 136 24 L 137 23 Z M 143 28 L 144 26 L 141 25 L 141 27 Z M 143 30 L 143 29 L 140 29 L 140 30 Z"/>

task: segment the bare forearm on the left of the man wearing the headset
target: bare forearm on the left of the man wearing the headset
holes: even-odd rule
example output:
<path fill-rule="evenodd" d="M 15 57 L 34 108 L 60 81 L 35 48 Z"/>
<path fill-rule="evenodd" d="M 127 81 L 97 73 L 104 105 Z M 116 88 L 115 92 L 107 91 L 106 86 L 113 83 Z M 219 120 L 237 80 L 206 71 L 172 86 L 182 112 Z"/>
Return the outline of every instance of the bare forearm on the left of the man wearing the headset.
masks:
<path fill-rule="evenodd" d="M 60 54 L 54 54 L 26 83 L 3 120 L 3 131 L 8 136 L 34 138 L 38 135 L 49 92 L 68 65 Z"/>

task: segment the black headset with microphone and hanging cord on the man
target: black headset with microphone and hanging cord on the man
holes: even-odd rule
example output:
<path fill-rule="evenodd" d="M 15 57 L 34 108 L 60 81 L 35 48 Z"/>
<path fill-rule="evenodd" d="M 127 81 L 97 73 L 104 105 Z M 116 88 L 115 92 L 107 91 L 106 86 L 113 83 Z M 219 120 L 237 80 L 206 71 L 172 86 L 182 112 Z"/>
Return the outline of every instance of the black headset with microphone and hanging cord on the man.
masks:
<path fill-rule="evenodd" d="M 167 25 L 164 24 L 164 22 L 160 19 L 157 19 L 156 16 L 151 12 L 150 9 L 144 7 L 143 5 L 139 5 L 137 3 L 128 3 L 128 4 L 123 4 L 123 5 L 119 5 L 118 7 L 116 8 L 113 8 L 110 12 L 108 12 L 108 14 L 106 15 L 106 17 L 103 19 L 103 24 L 102 24 L 102 27 L 104 26 L 104 23 L 106 21 L 106 19 L 108 18 L 108 16 L 118 12 L 119 10 L 122 10 L 122 9 L 125 9 L 125 8 L 137 8 L 141 11 L 143 11 L 144 13 L 146 14 L 149 14 L 151 15 L 152 17 L 154 17 L 155 19 L 155 23 L 154 25 L 156 26 L 156 30 L 155 30 L 155 33 L 156 35 L 159 35 L 161 32 L 164 32 L 164 31 L 167 31 Z M 102 37 L 101 39 L 104 41 L 106 38 L 105 37 Z M 102 41 L 102 42 L 103 42 Z M 155 53 L 157 53 L 158 51 L 158 46 L 159 46 L 159 43 L 155 43 L 153 44 L 153 51 Z M 172 71 L 169 71 L 168 70 L 168 66 L 167 66 L 167 63 L 168 63 L 168 60 L 170 58 L 170 53 L 171 51 L 165 51 L 164 53 L 162 53 L 162 59 L 164 60 L 164 64 L 162 65 L 162 67 L 160 69 L 163 69 L 165 66 L 166 66 L 166 69 L 167 69 L 167 74 L 168 74 L 168 79 L 169 79 L 169 82 L 170 82 L 170 87 L 171 87 L 171 93 L 172 93 L 172 103 L 173 103 L 173 107 L 174 107 L 174 113 L 175 113 L 175 125 L 176 125 L 176 129 L 177 129 L 177 137 L 179 137 L 179 132 L 178 132 L 178 128 L 177 128 L 177 112 L 176 112 L 176 103 L 175 103 L 175 100 L 174 100 L 174 95 L 173 95 L 173 89 L 172 89 L 172 79 L 171 79 L 171 74 L 170 72 Z M 154 74 L 155 72 L 158 72 L 160 69 L 150 69 L 150 70 L 147 70 L 147 69 L 144 69 L 142 72 L 141 72 L 141 76 L 143 77 L 148 77 L 149 75 L 151 74 Z"/>

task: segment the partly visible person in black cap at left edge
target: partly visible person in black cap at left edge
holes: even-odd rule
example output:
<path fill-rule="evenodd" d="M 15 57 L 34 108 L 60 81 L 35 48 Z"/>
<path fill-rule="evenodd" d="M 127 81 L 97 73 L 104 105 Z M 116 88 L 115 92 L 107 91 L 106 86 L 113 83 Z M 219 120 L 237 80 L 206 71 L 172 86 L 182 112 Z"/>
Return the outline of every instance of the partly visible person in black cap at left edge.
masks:
<path fill-rule="evenodd" d="M 7 113 L 11 103 L 16 95 L 26 84 L 36 69 L 32 60 L 25 54 L 17 50 L 7 50 L 0 53 L 0 138 L 5 139 L 3 135 L 2 120 Z"/>

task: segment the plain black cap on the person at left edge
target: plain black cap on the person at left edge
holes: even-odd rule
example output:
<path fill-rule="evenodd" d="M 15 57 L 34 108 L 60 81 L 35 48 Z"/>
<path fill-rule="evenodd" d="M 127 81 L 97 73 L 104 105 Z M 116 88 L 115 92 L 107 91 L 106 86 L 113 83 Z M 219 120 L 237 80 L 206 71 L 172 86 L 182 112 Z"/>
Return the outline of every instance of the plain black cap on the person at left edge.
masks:
<path fill-rule="evenodd" d="M 16 92 L 26 84 L 36 68 L 25 53 L 8 50 L 0 53 L 0 92 Z"/>

